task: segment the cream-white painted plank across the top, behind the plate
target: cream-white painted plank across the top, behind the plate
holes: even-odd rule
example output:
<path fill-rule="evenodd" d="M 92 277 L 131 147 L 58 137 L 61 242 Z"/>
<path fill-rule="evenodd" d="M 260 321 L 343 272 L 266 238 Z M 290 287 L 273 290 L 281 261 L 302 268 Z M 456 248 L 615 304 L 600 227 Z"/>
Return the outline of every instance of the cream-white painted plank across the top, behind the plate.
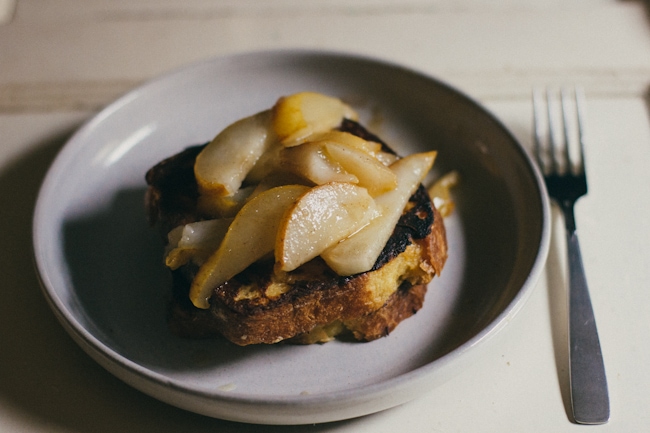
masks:
<path fill-rule="evenodd" d="M 96 109 L 189 62 L 263 49 L 381 57 L 489 99 L 522 97 L 548 82 L 638 96 L 650 77 L 641 2 L 472 9 L 478 2 L 412 1 L 395 10 L 379 0 L 354 7 L 285 1 L 263 2 L 263 13 L 252 0 L 219 3 L 222 9 L 198 1 L 82 3 L 25 0 L 0 26 L 0 110 Z"/>

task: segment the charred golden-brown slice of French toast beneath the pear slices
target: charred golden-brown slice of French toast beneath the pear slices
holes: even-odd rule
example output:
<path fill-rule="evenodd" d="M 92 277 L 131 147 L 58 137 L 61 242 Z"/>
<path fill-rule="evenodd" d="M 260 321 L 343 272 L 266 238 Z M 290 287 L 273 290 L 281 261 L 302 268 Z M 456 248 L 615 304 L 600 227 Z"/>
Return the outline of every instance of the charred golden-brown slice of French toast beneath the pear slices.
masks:
<path fill-rule="evenodd" d="M 340 129 L 389 149 L 354 121 L 344 120 Z M 165 239 L 174 227 L 204 217 L 192 171 L 202 148 L 190 147 L 147 173 L 149 221 Z M 272 258 L 260 260 L 214 287 L 210 307 L 199 309 L 188 298 L 198 267 L 188 263 L 172 271 L 170 328 L 192 338 L 222 335 L 237 345 L 309 344 L 342 333 L 374 340 L 422 307 L 426 285 L 440 274 L 446 258 L 442 217 L 420 186 L 371 270 L 340 276 L 317 257 L 278 272 Z"/>

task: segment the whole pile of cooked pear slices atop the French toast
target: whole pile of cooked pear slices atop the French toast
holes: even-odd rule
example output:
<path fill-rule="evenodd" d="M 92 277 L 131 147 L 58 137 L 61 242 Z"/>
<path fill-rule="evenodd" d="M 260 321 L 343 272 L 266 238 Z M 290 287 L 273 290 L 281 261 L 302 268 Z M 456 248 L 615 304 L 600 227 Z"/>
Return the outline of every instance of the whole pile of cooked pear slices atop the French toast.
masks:
<path fill-rule="evenodd" d="M 338 275 L 370 270 L 436 152 L 398 158 L 336 130 L 357 113 L 303 92 L 219 133 L 196 158 L 199 209 L 213 219 L 169 233 L 166 264 L 194 262 L 190 300 L 273 255 L 275 272 L 320 256 Z"/>

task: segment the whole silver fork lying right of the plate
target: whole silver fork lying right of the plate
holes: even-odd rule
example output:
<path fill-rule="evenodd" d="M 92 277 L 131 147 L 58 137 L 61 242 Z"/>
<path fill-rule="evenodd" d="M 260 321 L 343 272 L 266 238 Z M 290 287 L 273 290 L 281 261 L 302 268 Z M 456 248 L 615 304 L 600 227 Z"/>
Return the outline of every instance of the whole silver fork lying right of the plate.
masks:
<path fill-rule="evenodd" d="M 561 116 L 558 116 L 561 119 L 556 119 L 555 114 L 559 114 L 554 110 L 558 105 L 557 98 L 553 98 L 548 90 L 546 98 L 541 93 L 533 91 L 535 156 L 544 173 L 548 194 L 562 210 L 566 226 L 569 381 L 573 418 L 579 424 L 604 424 L 609 420 L 607 379 L 573 213 L 575 202 L 587 194 L 582 118 L 584 94 L 581 89 L 573 92 L 562 89 L 559 101 Z M 562 123 L 563 139 L 556 135 L 556 120 Z M 575 146 L 578 149 L 572 152 Z"/>

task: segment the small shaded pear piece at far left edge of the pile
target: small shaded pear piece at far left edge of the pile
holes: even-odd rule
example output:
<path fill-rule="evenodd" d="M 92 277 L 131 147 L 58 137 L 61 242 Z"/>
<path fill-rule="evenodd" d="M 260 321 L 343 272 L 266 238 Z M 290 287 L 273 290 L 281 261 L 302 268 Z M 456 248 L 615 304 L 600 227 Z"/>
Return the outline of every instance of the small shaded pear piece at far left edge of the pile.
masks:
<path fill-rule="evenodd" d="M 197 265 L 219 248 L 232 218 L 197 221 L 178 226 L 167 235 L 169 244 L 165 264 L 178 269 L 190 261 Z"/>

